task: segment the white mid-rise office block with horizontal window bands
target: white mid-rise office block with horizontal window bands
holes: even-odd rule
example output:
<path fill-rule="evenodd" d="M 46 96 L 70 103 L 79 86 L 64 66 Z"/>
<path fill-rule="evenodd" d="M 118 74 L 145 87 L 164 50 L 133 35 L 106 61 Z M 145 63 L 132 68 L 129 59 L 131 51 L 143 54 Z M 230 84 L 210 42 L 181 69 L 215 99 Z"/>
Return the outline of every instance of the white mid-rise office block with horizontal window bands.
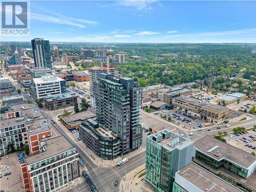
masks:
<path fill-rule="evenodd" d="M 66 80 L 55 75 L 33 78 L 31 93 L 34 98 L 42 99 L 47 95 L 66 93 Z"/>

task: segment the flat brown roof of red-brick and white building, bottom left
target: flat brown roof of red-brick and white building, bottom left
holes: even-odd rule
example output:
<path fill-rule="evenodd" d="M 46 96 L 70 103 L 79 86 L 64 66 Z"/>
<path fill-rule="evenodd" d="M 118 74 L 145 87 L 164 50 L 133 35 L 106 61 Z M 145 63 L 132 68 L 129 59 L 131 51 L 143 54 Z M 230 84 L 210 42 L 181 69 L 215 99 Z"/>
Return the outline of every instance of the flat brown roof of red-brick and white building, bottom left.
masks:
<path fill-rule="evenodd" d="M 72 150 L 72 148 L 74 148 L 74 146 L 64 136 L 54 137 L 51 139 L 40 139 L 40 142 L 43 141 L 46 143 L 44 145 L 46 151 L 25 158 L 25 161 L 28 165 L 49 158 L 51 156 Z"/>

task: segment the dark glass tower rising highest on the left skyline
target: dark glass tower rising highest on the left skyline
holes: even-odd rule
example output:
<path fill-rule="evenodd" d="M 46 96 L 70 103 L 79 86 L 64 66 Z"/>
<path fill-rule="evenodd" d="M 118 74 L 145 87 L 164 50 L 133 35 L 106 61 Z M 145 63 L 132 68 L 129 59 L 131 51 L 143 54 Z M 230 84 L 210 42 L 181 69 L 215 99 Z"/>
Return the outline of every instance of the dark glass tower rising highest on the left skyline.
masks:
<path fill-rule="evenodd" d="M 34 38 L 31 40 L 35 67 L 52 69 L 51 50 L 49 40 Z"/>

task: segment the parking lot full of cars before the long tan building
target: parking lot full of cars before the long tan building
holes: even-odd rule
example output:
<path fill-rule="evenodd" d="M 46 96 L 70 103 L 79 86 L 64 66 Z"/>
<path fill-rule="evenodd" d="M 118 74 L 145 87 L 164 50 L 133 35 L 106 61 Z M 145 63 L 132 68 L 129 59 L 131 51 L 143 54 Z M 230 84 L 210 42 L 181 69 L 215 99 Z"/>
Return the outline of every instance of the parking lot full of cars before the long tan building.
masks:
<path fill-rule="evenodd" d="M 200 124 L 206 123 L 206 121 L 203 121 L 196 117 L 190 116 L 189 114 L 186 114 L 180 111 L 175 111 L 175 110 L 157 111 L 157 112 L 154 112 L 154 115 L 157 115 L 159 117 L 160 116 L 163 117 L 166 115 L 167 119 L 168 117 L 171 117 L 173 122 L 180 124 L 181 127 L 188 130 L 200 129 L 202 128 Z"/>

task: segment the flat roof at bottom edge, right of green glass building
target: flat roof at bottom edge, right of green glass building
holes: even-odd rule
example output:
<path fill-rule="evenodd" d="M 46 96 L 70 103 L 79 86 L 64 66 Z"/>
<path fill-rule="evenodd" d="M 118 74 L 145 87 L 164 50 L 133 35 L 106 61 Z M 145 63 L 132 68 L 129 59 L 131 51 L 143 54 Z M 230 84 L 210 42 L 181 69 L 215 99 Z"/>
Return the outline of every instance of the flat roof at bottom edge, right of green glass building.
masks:
<path fill-rule="evenodd" d="M 193 184 L 195 187 L 202 191 L 230 191 L 230 192 L 241 192 L 237 187 L 230 185 L 223 179 L 211 174 L 202 167 L 195 163 L 189 163 L 177 172 L 179 176 Z"/>

